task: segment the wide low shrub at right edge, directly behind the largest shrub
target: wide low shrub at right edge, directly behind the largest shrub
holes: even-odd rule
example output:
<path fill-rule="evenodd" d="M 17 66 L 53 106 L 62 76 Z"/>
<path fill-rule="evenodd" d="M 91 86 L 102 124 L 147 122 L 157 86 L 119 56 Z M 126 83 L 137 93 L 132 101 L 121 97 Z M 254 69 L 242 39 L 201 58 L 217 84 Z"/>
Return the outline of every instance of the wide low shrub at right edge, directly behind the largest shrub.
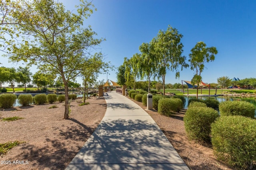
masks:
<path fill-rule="evenodd" d="M 219 106 L 221 116 L 241 115 L 254 118 L 255 106 L 244 101 L 226 101 Z"/>

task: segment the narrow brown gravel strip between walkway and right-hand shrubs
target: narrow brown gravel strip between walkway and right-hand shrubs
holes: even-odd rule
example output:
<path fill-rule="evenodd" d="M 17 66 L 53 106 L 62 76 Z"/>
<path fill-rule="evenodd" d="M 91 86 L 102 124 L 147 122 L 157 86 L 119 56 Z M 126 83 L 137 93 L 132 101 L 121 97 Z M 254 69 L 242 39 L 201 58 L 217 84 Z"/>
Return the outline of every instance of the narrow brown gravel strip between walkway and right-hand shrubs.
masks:
<path fill-rule="evenodd" d="M 128 96 L 126 97 L 129 98 Z M 129 99 L 142 107 L 142 109 L 145 109 L 152 119 L 154 119 L 190 169 L 234 170 L 233 167 L 216 159 L 211 145 L 207 143 L 199 145 L 194 141 L 188 140 L 183 121 L 184 112 L 177 113 L 172 117 L 166 117 L 160 115 L 156 110 L 147 110 L 146 106 L 142 105 L 142 102 L 137 102 L 131 98 Z"/>

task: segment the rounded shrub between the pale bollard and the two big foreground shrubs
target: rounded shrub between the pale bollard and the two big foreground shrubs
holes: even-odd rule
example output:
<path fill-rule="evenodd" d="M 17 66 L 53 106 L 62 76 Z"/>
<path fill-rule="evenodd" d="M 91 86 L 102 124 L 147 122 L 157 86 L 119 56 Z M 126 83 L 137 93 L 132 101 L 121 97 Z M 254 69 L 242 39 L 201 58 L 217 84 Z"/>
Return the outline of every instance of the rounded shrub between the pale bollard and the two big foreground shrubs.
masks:
<path fill-rule="evenodd" d="M 158 101 L 158 112 L 160 114 L 171 116 L 183 107 L 180 99 L 160 98 Z"/>

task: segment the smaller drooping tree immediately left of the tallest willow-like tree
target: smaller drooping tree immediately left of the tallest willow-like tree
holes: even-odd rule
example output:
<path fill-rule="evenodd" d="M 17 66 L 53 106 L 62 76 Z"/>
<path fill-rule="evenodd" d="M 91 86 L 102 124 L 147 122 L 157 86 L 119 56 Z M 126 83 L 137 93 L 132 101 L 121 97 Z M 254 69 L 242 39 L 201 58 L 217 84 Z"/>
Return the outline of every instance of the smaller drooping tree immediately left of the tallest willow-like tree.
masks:
<path fill-rule="evenodd" d="M 155 40 L 150 43 L 142 43 L 139 50 L 142 53 L 138 62 L 140 78 L 146 77 L 148 79 L 148 93 L 150 93 L 150 78 L 156 76 L 157 58 L 155 53 Z"/>

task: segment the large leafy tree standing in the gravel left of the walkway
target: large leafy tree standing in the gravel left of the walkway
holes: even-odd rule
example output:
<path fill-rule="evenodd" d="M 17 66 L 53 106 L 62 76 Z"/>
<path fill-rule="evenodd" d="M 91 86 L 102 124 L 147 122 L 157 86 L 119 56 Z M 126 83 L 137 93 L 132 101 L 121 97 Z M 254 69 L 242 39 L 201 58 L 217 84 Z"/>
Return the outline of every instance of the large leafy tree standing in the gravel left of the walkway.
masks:
<path fill-rule="evenodd" d="M 103 39 L 96 39 L 96 33 L 82 25 L 92 14 L 91 2 L 80 0 L 77 12 L 66 11 L 63 4 L 54 0 L 25 1 L 24 10 L 14 10 L 14 22 L 24 35 L 30 35 L 22 44 L 13 45 L 11 61 L 25 61 L 37 64 L 42 71 L 59 74 L 62 77 L 65 96 L 68 98 L 68 82 L 80 74 L 91 48 Z M 22 20 L 21 20 L 22 18 Z M 30 39 L 29 39 L 30 38 Z M 64 118 L 69 117 L 68 100 L 65 101 Z"/>

